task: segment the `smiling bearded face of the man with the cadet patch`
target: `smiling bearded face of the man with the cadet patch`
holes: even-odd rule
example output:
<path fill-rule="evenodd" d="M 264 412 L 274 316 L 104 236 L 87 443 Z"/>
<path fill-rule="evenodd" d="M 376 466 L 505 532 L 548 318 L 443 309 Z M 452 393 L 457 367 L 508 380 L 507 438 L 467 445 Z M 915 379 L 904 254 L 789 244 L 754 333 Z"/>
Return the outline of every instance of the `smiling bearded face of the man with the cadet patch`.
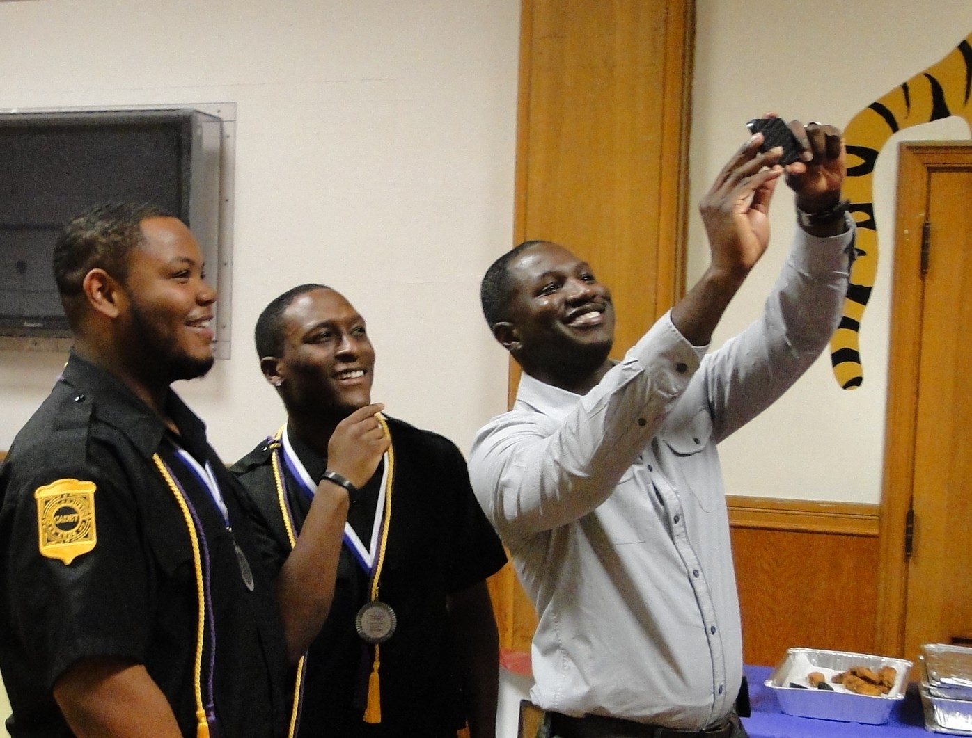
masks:
<path fill-rule="evenodd" d="M 146 218 L 144 241 L 128 253 L 126 352 L 165 384 L 201 377 L 213 365 L 213 303 L 202 254 L 177 218 Z"/>

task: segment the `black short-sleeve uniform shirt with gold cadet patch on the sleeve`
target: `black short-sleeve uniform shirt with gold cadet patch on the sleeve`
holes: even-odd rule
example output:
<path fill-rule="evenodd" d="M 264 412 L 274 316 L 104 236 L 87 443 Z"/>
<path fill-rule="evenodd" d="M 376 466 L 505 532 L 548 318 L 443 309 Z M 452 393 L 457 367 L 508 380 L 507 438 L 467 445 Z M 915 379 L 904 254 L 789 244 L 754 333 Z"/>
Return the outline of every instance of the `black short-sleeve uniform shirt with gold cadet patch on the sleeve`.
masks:
<path fill-rule="evenodd" d="M 155 453 L 182 488 L 203 553 L 204 701 L 226 736 L 286 730 L 286 650 L 250 516 L 202 422 L 174 392 L 167 411 L 178 439 L 166 438 L 161 420 L 125 386 L 72 354 L 0 467 L 0 670 L 14 736 L 71 734 L 52 685 L 92 656 L 144 664 L 183 733 L 195 734 L 195 566 L 188 523 Z M 174 441 L 209 461 L 228 527 Z M 234 544 L 249 552 L 252 591 Z"/>

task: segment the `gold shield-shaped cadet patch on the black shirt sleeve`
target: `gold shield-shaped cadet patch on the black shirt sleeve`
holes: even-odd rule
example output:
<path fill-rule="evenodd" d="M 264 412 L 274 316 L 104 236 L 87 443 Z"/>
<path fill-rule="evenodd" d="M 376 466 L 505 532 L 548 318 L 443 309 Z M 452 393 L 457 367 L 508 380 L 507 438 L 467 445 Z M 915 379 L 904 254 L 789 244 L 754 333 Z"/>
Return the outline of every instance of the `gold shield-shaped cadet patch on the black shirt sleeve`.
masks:
<path fill-rule="evenodd" d="M 37 542 L 41 554 L 70 564 L 98 542 L 94 525 L 94 483 L 59 479 L 34 490 Z"/>

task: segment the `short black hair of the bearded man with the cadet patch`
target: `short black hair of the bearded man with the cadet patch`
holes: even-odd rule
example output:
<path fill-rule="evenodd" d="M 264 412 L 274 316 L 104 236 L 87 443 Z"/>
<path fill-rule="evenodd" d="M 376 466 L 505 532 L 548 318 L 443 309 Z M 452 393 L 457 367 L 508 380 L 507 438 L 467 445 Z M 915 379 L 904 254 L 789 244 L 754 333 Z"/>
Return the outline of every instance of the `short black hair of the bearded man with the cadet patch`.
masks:
<path fill-rule="evenodd" d="M 95 205 L 71 218 L 54 242 L 54 282 L 69 321 L 77 313 L 85 277 L 92 269 L 104 269 L 123 285 L 128 277 L 128 254 L 145 243 L 142 221 L 171 218 L 148 202 L 109 202 Z"/>

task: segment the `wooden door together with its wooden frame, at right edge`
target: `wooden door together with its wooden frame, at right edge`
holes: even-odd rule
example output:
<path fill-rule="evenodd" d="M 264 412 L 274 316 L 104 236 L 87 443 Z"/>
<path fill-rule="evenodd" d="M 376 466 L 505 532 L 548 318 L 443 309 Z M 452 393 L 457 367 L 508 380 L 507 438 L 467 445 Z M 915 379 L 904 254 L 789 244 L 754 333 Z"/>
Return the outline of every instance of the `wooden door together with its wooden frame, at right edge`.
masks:
<path fill-rule="evenodd" d="M 898 187 L 885 497 L 902 526 L 890 633 L 915 659 L 972 645 L 972 146 L 903 145 Z"/>

